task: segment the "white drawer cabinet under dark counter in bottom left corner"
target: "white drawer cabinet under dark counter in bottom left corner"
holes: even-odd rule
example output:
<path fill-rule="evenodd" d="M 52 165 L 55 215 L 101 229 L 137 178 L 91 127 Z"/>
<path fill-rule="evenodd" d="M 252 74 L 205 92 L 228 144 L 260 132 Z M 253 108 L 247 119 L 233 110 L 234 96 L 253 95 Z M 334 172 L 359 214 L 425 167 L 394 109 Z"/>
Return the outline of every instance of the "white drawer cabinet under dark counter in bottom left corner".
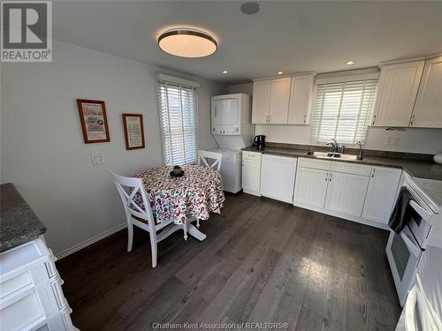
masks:
<path fill-rule="evenodd" d="M 77 330 L 54 260 L 42 237 L 0 253 L 0 330 Z"/>

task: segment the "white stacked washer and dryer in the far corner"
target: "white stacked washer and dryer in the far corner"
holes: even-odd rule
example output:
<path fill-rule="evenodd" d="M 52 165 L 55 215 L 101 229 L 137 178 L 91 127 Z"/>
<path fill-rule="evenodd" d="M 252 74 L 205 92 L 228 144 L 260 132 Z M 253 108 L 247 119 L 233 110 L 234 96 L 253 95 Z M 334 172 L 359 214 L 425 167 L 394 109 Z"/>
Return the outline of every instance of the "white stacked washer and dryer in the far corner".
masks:
<path fill-rule="evenodd" d="M 241 184 L 241 148 L 253 142 L 250 95 L 224 94 L 211 98 L 211 132 L 217 148 L 211 152 L 223 154 L 221 177 L 226 192 L 237 193 Z"/>

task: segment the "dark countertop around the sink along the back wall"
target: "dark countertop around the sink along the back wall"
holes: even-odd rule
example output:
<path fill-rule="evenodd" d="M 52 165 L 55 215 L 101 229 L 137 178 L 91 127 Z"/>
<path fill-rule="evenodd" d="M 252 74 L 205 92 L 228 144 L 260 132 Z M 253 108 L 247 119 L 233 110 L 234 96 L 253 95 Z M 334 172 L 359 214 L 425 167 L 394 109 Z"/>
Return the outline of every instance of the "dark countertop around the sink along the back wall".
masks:
<path fill-rule="evenodd" d="M 264 150 L 260 151 L 257 150 L 256 147 L 250 146 L 242 148 L 242 150 L 249 152 L 257 152 L 262 154 L 316 158 L 316 156 L 307 154 L 309 152 L 309 148 L 288 148 L 288 147 L 270 146 L 270 147 L 265 147 Z M 442 180 L 442 164 L 438 164 L 436 162 L 431 162 L 431 161 L 410 159 L 410 158 L 405 159 L 400 157 L 391 157 L 388 156 L 391 155 L 388 152 L 385 152 L 383 154 L 385 154 L 385 156 L 364 155 L 364 159 L 362 161 L 352 161 L 352 160 L 342 160 L 342 159 L 326 159 L 326 160 L 400 168 L 407 171 L 411 177 Z M 428 160 L 428 158 L 426 159 Z"/>

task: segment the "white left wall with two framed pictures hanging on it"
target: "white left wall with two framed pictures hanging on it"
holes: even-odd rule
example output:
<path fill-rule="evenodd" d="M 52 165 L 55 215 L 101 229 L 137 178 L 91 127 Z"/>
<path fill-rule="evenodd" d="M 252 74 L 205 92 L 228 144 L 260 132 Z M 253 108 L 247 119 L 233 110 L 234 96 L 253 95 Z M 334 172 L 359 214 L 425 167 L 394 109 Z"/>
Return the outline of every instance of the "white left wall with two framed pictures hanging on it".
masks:
<path fill-rule="evenodd" d="M 155 74 L 189 77 L 61 41 L 53 58 L 2 64 L 1 166 L 2 183 L 16 184 L 59 253 L 125 222 L 109 171 L 133 175 L 163 164 Z M 210 95 L 227 87 L 194 80 L 201 83 L 200 147 L 216 147 Z M 106 102 L 110 142 L 84 144 L 77 98 Z M 126 151 L 121 114 L 130 112 L 143 114 L 145 149 Z M 93 152 L 103 153 L 106 163 L 92 165 Z"/>

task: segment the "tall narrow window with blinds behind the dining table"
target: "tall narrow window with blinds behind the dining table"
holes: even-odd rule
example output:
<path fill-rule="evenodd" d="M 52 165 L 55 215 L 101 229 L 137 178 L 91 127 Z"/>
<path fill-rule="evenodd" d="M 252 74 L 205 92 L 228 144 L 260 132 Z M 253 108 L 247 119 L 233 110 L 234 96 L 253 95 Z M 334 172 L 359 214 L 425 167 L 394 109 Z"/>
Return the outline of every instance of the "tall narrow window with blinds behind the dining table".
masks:
<path fill-rule="evenodd" d="M 158 111 L 166 165 L 197 161 L 197 84 L 158 75 Z"/>

